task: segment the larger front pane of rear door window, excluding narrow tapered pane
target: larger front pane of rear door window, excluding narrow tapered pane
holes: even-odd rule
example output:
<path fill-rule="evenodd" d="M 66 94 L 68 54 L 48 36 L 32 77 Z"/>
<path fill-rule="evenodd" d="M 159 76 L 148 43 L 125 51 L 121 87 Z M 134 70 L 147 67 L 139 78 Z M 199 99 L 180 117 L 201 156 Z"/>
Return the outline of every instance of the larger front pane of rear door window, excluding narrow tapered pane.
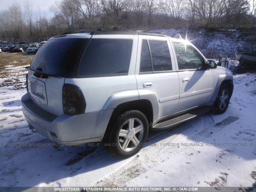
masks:
<path fill-rule="evenodd" d="M 154 71 L 170 71 L 172 63 L 166 41 L 149 40 Z"/>

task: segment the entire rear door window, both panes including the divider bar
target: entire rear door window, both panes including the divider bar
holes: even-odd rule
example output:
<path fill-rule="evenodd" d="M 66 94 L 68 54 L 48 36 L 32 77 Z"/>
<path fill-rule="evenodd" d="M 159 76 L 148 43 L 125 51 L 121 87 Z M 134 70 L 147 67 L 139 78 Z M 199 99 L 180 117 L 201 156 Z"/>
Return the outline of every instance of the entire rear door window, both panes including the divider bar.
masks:
<path fill-rule="evenodd" d="M 165 72 L 172 70 L 170 52 L 166 41 L 143 40 L 140 72 Z"/>

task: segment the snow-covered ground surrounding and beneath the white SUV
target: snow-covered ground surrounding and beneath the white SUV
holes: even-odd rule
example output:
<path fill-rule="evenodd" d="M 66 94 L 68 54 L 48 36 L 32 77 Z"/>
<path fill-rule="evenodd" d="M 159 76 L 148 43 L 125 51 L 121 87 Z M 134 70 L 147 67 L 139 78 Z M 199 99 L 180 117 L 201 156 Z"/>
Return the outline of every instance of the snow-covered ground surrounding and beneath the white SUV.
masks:
<path fill-rule="evenodd" d="M 0 79 L 0 187 L 256 186 L 256 73 L 234 75 L 224 114 L 150 132 L 136 156 L 119 160 L 101 143 L 56 149 L 32 133 L 20 103 L 26 70 L 7 68 L 10 75 Z M 10 79 L 19 81 L 4 84 Z"/>

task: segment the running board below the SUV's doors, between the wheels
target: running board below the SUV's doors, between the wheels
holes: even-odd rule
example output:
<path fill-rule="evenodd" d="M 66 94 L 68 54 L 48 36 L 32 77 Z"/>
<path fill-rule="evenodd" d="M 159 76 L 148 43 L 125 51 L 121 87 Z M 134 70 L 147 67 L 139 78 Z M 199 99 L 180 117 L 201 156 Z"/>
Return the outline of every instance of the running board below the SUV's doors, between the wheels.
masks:
<path fill-rule="evenodd" d="M 154 125 L 152 127 L 152 129 L 166 129 L 166 128 L 170 128 L 172 126 L 178 125 L 180 123 L 183 123 L 185 121 L 188 121 L 192 118 L 195 118 L 198 115 L 201 114 L 205 114 L 208 111 L 210 111 L 210 107 L 206 106 L 206 107 L 202 107 L 196 110 L 192 110 L 184 115 L 178 116 L 178 117 L 174 117 L 174 118 L 169 118 L 168 120 L 164 121 L 164 122 L 160 122 L 156 125 Z"/>

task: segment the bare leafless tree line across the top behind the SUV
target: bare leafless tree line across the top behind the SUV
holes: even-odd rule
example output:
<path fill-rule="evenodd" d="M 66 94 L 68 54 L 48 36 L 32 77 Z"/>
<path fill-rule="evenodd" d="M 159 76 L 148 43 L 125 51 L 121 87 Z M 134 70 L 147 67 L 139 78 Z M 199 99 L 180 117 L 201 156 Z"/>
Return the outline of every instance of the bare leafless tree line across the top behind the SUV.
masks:
<path fill-rule="evenodd" d="M 256 28 L 256 0 L 251 5 L 248 0 L 61 0 L 50 10 L 49 19 L 28 0 L 6 8 L 0 13 L 0 40 L 42 41 L 89 28 Z"/>

